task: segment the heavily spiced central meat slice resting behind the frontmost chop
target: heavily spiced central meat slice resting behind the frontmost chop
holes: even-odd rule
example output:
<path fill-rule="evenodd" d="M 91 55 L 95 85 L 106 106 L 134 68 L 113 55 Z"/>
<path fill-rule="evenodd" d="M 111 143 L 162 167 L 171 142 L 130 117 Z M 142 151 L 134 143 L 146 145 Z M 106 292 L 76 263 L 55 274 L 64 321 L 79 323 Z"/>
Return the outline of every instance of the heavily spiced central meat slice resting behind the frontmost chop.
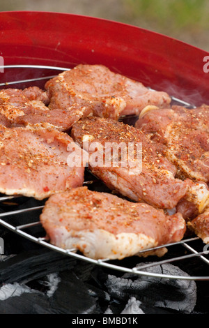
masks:
<path fill-rule="evenodd" d="M 176 167 L 163 156 L 162 144 L 151 141 L 137 128 L 112 119 L 89 117 L 74 124 L 71 136 L 88 151 L 91 172 L 130 200 L 171 209 L 187 193 L 188 181 L 175 179 Z M 129 158 L 125 153 L 127 163 L 123 163 L 120 151 L 111 150 L 114 144 L 118 149 L 122 144 L 127 153 L 134 145 L 133 156 Z M 135 156 L 140 155 L 139 145 L 141 156 Z M 95 155 L 103 161 L 97 164 Z"/>

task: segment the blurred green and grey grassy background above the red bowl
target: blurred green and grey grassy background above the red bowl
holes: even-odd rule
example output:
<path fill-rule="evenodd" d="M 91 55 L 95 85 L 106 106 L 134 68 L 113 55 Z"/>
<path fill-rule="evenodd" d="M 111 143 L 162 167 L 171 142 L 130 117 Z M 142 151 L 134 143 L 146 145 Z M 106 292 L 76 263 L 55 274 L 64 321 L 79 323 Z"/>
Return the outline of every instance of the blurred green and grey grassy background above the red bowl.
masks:
<path fill-rule="evenodd" d="M 44 10 L 107 18 L 209 51 L 207 0 L 0 0 L 0 11 Z"/>

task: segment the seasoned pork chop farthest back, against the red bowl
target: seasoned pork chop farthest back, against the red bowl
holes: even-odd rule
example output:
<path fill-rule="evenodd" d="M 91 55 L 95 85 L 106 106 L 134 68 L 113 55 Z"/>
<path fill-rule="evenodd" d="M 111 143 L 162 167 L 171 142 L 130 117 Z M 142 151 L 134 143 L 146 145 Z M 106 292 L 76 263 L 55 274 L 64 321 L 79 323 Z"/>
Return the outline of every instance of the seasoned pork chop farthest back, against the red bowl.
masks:
<path fill-rule="evenodd" d="M 102 65 L 80 64 L 47 81 L 45 88 L 50 109 L 69 110 L 74 116 L 82 108 L 79 118 L 93 114 L 118 119 L 121 115 L 139 114 L 146 105 L 168 107 L 171 102 L 165 92 L 150 91 L 140 82 Z"/>

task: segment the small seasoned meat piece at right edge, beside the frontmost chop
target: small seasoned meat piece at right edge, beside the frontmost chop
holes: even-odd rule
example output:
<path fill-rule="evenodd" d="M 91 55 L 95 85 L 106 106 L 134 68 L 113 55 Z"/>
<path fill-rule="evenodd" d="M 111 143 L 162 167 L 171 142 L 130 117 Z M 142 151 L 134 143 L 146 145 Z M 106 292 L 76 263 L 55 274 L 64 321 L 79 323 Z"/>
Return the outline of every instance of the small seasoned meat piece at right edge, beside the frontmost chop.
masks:
<path fill-rule="evenodd" d="M 187 225 L 205 244 L 209 243 L 209 209 L 188 222 Z"/>

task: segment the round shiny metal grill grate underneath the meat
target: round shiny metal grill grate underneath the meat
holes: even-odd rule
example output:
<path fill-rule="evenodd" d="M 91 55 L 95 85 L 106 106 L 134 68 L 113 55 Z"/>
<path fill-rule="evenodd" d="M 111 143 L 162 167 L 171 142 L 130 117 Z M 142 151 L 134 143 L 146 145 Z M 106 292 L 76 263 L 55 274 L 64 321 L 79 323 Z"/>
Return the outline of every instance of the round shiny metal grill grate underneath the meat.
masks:
<path fill-rule="evenodd" d="M 0 83 L 0 87 L 8 87 L 10 85 L 13 85 L 13 87 L 20 87 L 20 85 L 26 87 L 26 85 L 28 83 L 32 83 L 32 82 L 38 82 L 38 81 L 43 81 L 43 80 L 49 80 L 50 78 L 54 77 L 57 75 L 58 71 L 63 71 L 63 70 L 69 70 L 69 68 L 62 68 L 62 67 L 54 67 L 54 66 L 35 66 L 35 65 L 10 65 L 10 66 L 0 66 L 0 68 L 4 68 L 4 69 L 16 69 L 16 70 L 21 70 L 21 72 L 19 74 L 17 74 L 18 76 L 22 76 L 22 78 L 17 78 L 13 81 L 4 81 Z M 25 70 L 27 70 L 27 74 L 25 74 Z M 53 71 L 53 75 L 45 75 L 45 73 L 47 70 L 52 70 Z M 28 73 L 31 75 L 31 73 L 33 72 L 39 72 L 39 76 L 37 77 L 30 77 L 30 78 L 24 78 L 26 75 L 28 75 Z M 11 76 L 13 76 L 15 74 L 12 74 Z M 36 75 L 36 74 L 35 74 Z M 42 76 L 41 76 L 42 75 Z M 7 75 L 6 75 L 7 77 Z M 36 84 L 37 85 L 37 84 Z M 149 88 L 150 89 L 150 88 Z M 153 90 L 153 89 L 150 89 Z M 186 103 L 183 100 L 180 100 L 176 97 L 172 97 L 171 99 L 174 103 L 178 103 L 179 105 L 184 105 L 187 107 L 194 107 L 189 103 Z M 96 181 L 92 180 L 92 181 L 84 181 L 84 184 L 91 184 L 93 186 L 93 184 Z M 0 204 L 13 204 L 14 200 L 17 200 L 18 197 L 22 197 L 19 195 L 15 195 L 15 196 L 7 196 L 7 195 L 1 195 L 0 197 Z M 37 204 L 37 202 L 36 202 Z M 45 237 L 36 237 L 36 234 L 33 234 L 33 232 L 26 232 L 26 230 L 28 228 L 30 228 L 30 230 L 33 230 L 34 227 L 40 226 L 40 230 L 41 230 L 41 223 L 39 221 L 39 215 L 37 213 L 37 220 L 30 222 L 30 223 L 23 223 L 22 225 L 14 225 L 12 224 L 13 222 L 13 217 L 17 216 L 17 215 L 23 215 L 23 214 L 29 214 L 30 212 L 36 213 L 38 211 L 41 211 L 42 208 L 44 207 L 44 204 L 42 204 L 40 202 L 40 205 L 38 206 L 34 206 L 34 207 L 27 207 L 24 209 L 15 209 L 15 210 L 7 210 L 5 211 L 5 209 L 3 209 L 3 212 L 0 213 L 0 224 L 3 225 L 3 227 L 13 231 L 15 234 L 19 234 L 22 237 L 29 239 L 30 241 L 33 241 L 37 244 L 40 244 L 44 247 L 50 248 L 53 251 L 57 251 L 60 253 L 63 253 L 67 256 L 71 256 L 73 258 L 77 258 L 78 260 L 84 260 L 87 262 L 91 262 L 93 264 L 96 265 L 100 265 L 102 267 L 106 267 L 109 269 L 113 269 L 113 270 L 118 270 L 118 271 L 123 271 L 123 272 L 127 272 L 127 273 L 132 273 L 132 274 L 137 274 L 137 275 L 146 275 L 146 276 L 157 276 L 158 278 L 171 278 L 171 279 L 186 279 L 186 280 L 196 280 L 196 281 L 208 281 L 209 280 L 209 276 L 203 276 L 202 272 L 196 276 L 192 276 L 191 274 L 188 276 L 173 276 L 173 275 L 169 275 L 169 274 L 155 274 L 152 272 L 147 272 L 147 271 L 143 271 L 144 269 L 148 268 L 148 267 L 155 267 L 156 265 L 159 264 L 164 264 L 164 263 L 171 263 L 171 262 L 183 262 L 183 260 L 194 260 L 194 259 L 198 259 L 201 262 L 203 262 L 204 264 L 206 264 L 206 266 L 209 264 L 209 258 L 208 258 L 208 254 L 209 254 L 209 250 L 207 248 L 206 245 L 203 244 L 203 242 L 201 241 L 201 239 L 199 239 L 199 237 L 192 237 L 192 238 L 187 238 L 187 239 L 183 239 L 182 241 L 176 242 L 176 243 L 172 243 L 172 244 L 167 244 L 167 245 L 163 245 L 163 246 L 158 246 L 155 248 L 150 248 L 147 251 L 155 251 L 157 248 L 164 248 L 166 247 L 169 251 L 169 257 L 167 258 L 163 258 L 163 260 L 159 260 L 159 258 L 157 258 L 154 262 L 150 262 L 150 263 L 144 263 L 141 262 L 140 267 L 137 267 L 136 265 L 134 265 L 134 261 L 132 261 L 132 258 L 128 259 L 128 265 L 126 260 L 120 260 L 120 261 L 112 261 L 109 259 L 101 259 L 101 260 L 93 260 L 91 258 L 87 258 L 86 256 L 80 254 L 79 252 L 77 252 L 76 249 L 68 249 L 65 250 L 63 248 L 59 248 L 56 247 L 52 244 L 50 244 L 50 242 L 45 238 Z M 8 207 L 10 208 L 10 207 Z M 24 220 L 23 220 L 24 221 Z M 41 233 L 40 233 L 41 236 Z M 173 256 L 173 252 L 170 251 L 170 249 L 172 247 L 178 247 L 178 249 L 180 250 L 179 253 L 184 253 L 183 255 L 177 255 L 176 253 Z M 187 254 L 185 254 L 185 252 Z M 140 252 L 141 254 L 144 253 L 144 251 Z M 140 255 L 139 253 L 139 255 Z M 140 258 L 137 257 L 137 263 L 140 262 Z M 204 272 L 203 272 L 204 273 Z"/>

